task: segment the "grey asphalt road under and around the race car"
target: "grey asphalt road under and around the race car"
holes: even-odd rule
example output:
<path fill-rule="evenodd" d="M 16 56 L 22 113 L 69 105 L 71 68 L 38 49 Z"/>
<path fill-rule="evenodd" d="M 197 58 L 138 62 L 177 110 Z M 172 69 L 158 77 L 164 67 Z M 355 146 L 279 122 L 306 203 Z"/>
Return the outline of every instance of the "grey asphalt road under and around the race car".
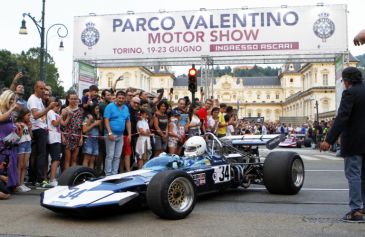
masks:
<path fill-rule="evenodd" d="M 348 211 L 342 158 L 292 150 L 306 169 L 304 187 L 294 196 L 252 186 L 199 197 L 191 215 L 179 221 L 159 219 L 148 209 L 78 219 L 40 207 L 40 190 L 32 190 L 0 201 L 0 236 L 365 236 L 365 224 L 339 221 Z"/>

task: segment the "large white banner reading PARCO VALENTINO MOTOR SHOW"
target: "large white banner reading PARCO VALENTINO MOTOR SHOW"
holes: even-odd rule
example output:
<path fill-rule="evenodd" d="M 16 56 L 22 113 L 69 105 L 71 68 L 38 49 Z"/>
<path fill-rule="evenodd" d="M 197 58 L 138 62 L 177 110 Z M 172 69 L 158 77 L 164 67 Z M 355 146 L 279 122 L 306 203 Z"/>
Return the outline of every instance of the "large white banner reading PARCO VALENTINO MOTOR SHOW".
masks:
<path fill-rule="evenodd" d="M 339 53 L 346 5 L 75 17 L 74 59 Z"/>

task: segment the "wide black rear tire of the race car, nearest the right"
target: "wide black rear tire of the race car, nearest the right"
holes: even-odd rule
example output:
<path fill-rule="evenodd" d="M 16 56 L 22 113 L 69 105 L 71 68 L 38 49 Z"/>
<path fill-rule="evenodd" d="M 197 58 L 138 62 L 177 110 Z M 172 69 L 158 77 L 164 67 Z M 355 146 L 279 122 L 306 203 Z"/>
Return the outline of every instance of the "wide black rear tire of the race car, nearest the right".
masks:
<path fill-rule="evenodd" d="M 304 183 L 304 164 L 295 152 L 271 152 L 264 162 L 264 184 L 270 193 L 297 194 Z"/>

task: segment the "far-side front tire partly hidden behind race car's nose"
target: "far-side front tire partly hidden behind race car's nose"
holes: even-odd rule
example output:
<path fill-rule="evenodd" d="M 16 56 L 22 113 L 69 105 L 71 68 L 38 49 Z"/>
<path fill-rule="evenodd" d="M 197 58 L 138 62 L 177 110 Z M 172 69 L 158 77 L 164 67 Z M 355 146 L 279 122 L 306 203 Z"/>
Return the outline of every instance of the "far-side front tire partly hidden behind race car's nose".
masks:
<path fill-rule="evenodd" d="M 68 168 L 65 172 L 63 172 L 61 177 L 58 179 L 58 185 L 72 187 L 95 177 L 97 177 L 95 170 L 84 166 L 75 166 Z"/>

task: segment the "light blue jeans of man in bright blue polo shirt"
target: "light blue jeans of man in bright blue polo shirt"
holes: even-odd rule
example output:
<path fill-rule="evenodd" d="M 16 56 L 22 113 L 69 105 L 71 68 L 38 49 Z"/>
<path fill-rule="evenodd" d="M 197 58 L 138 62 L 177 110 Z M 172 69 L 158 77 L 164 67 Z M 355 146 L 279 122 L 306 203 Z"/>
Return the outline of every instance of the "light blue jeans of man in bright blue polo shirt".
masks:
<path fill-rule="evenodd" d="M 123 135 L 114 136 L 114 141 L 109 137 L 105 138 L 106 157 L 105 157 L 105 175 L 118 174 L 120 156 L 123 150 Z"/>

